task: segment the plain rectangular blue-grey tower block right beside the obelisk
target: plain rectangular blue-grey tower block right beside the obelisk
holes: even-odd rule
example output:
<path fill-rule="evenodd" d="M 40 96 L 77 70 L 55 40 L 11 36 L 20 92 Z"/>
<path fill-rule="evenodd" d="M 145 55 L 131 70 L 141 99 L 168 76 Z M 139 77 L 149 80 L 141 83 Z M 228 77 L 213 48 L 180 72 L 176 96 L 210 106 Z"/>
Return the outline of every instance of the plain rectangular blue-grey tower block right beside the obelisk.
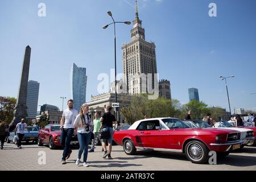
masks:
<path fill-rule="evenodd" d="M 27 84 L 27 118 L 36 118 L 38 110 L 39 82 L 30 80 Z"/>

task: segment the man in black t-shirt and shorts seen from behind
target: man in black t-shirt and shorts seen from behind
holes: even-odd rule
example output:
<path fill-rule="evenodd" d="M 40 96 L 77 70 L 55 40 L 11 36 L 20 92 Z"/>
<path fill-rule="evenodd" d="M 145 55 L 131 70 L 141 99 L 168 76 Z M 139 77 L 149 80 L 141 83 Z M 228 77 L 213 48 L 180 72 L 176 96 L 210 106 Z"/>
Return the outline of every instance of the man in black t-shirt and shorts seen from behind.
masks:
<path fill-rule="evenodd" d="M 104 150 L 103 158 L 105 159 L 108 156 L 108 159 L 112 159 L 111 151 L 112 151 L 112 140 L 113 140 L 113 123 L 117 123 L 113 114 L 111 114 L 112 107 L 108 106 L 106 108 L 107 112 L 101 117 L 101 128 L 104 130 L 109 130 L 110 138 L 109 139 L 102 139 L 102 147 Z M 106 141 L 108 141 L 108 151 L 106 150 Z"/>

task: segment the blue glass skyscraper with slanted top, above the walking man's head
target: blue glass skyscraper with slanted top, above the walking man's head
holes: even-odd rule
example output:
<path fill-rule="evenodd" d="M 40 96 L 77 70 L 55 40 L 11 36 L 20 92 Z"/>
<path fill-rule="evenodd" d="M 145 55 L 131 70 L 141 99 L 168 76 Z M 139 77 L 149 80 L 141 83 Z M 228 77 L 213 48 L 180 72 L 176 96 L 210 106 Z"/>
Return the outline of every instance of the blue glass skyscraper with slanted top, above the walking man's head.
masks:
<path fill-rule="evenodd" d="M 86 102 L 86 68 L 77 67 L 75 63 L 71 68 L 71 98 L 76 110 L 80 110 L 82 104 Z"/>

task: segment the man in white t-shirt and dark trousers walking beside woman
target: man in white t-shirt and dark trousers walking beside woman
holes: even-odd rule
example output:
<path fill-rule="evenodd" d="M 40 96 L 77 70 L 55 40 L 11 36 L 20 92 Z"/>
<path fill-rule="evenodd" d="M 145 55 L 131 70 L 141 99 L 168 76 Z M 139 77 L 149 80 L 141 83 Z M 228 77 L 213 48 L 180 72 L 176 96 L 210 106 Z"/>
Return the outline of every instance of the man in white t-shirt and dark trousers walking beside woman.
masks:
<path fill-rule="evenodd" d="M 60 121 L 61 132 L 61 146 L 64 148 L 61 163 L 65 164 L 66 159 L 72 153 L 70 148 L 70 142 L 72 135 L 74 134 L 74 121 L 78 115 L 77 110 L 73 108 L 73 100 L 68 100 L 68 109 L 63 111 L 62 118 Z"/>

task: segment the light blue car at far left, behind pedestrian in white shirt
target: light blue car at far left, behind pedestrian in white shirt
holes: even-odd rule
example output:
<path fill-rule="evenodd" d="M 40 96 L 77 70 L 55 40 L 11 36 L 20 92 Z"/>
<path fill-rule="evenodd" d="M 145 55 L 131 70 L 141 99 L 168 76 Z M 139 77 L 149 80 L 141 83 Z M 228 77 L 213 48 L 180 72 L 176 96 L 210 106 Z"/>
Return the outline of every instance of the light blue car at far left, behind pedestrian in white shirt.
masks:
<path fill-rule="evenodd" d="M 30 132 L 28 132 L 28 130 L 30 130 Z M 36 127 L 34 126 L 28 126 L 27 129 L 25 129 L 24 131 L 24 137 L 22 139 L 22 141 L 28 143 L 30 141 L 37 143 L 38 142 L 38 134 L 39 131 Z M 7 143 L 13 142 L 14 140 L 14 131 L 10 133 L 10 136 L 7 138 Z"/>

